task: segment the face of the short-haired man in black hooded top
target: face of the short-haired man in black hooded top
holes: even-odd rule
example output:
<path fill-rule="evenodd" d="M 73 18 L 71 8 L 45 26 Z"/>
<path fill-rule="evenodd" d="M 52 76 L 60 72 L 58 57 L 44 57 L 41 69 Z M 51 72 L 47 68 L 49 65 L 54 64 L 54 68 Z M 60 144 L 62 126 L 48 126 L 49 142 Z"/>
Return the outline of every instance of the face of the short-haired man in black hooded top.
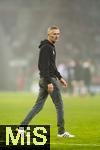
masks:
<path fill-rule="evenodd" d="M 59 29 L 53 29 L 48 33 L 48 37 L 53 43 L 55 43 L 59 39 L 59 36 L 60 36 Z"/>

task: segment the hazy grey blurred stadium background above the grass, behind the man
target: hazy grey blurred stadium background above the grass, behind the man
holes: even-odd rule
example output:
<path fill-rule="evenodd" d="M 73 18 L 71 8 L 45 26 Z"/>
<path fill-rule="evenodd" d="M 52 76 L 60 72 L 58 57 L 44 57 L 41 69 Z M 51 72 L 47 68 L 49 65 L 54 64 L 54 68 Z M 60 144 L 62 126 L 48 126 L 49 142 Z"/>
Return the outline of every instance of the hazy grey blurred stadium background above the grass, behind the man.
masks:
<path fill-rule="evenodd" d="M 99 0 L 0 0 L 1 91 L 35 85 L 38 45 L 52 24 L 61 29 L 57 65 L 69 93 L 100 92 Z"/>

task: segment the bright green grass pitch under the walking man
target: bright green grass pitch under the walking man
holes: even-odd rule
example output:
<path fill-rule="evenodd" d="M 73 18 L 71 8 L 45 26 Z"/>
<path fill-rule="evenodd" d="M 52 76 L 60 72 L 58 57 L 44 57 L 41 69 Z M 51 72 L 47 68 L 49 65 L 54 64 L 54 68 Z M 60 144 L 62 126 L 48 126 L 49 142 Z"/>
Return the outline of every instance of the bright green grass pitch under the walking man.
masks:
<path fill-rule="evenodd" d="M 19 124 L 33 107 L 33 93 L 0 93 L 0 124 Z M 65 128 L 75 138 L 58 138 L 56 111 L 48 97 L 42 111 L 30 125 L 50 125 L 51 150 L 100 150 L 100 95 L 63 95 Z"/>

